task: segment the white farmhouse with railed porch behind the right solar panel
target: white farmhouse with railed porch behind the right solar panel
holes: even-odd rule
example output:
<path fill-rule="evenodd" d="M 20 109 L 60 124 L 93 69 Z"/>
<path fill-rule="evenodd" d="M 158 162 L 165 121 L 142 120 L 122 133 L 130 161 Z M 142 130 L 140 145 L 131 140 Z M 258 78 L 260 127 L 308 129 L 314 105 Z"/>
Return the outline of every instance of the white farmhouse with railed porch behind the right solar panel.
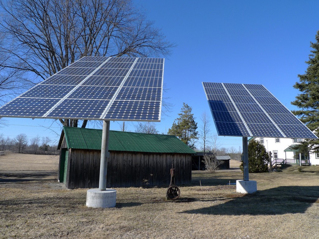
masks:
<path fill-rule="evenodd" d="M 292 149 L 291 146 L 299 144 L 302 139 L 292 138 L 266 138 L 266 137 L 252 137 L 248 140 L 258 140 L 265 146 L 266 150 L 271 152 L 272 160 L 279 162 L 280 160 L 289 164 L 310 164 L 319 165 L 319 153 L 311 153 L 305 156 Z M 301 159 L 301 162 L 300 162 Z"/>

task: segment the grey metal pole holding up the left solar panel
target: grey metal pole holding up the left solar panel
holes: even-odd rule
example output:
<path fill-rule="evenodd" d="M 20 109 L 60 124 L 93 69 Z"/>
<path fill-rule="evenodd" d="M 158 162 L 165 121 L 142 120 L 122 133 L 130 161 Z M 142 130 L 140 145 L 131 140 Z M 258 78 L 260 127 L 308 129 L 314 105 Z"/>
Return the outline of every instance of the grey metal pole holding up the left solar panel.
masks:
<path fill-rule="evenodd" d="M 110 134 L 110 121 L 103 121 L 103 130 L 102 130 L 102 145 L 101 145 L 101 164 L 100 164 L 100 182 L 99 190 L 106 190 L 106 179 L 108 172 L 108 138 Z"/>

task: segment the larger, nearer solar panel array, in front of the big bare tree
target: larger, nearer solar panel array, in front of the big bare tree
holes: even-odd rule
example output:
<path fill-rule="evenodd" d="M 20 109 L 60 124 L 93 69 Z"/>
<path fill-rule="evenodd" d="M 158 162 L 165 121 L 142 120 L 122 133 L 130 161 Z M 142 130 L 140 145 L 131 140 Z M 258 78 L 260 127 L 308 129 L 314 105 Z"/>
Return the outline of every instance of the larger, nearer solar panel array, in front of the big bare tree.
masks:
<path fill-rule="evenodd" d="M 86 56 L 0 107 L 0 117 L 159 121 L 163 58 Z"/>

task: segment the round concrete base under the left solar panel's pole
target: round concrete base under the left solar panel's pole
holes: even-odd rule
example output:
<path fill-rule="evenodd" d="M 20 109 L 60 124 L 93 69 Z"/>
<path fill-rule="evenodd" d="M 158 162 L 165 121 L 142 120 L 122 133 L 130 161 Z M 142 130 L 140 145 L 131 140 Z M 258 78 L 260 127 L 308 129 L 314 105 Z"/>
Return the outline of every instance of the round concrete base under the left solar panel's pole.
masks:
<path fill-rule="evenodd" d="M 107 188 L 101 191 L 97 188 L 89 189 L 86 193 L 86 206 L 88 207 L 115 207 L 116 190 Z"/>

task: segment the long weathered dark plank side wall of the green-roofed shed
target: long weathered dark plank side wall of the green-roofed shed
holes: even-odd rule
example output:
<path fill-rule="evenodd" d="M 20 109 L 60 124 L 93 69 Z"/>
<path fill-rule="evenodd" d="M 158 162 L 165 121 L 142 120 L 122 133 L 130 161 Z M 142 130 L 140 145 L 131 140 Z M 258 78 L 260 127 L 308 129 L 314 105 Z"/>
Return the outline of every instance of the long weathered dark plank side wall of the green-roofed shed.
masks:
<path fill-rule="evenodd" d="M 67 188 L 98 188 L 100 151 L 69 150 Z M 168 185 L 172 164 L 176 185 L 190 184 L 190 154 L 111 151 L 107 187 Z"/>

